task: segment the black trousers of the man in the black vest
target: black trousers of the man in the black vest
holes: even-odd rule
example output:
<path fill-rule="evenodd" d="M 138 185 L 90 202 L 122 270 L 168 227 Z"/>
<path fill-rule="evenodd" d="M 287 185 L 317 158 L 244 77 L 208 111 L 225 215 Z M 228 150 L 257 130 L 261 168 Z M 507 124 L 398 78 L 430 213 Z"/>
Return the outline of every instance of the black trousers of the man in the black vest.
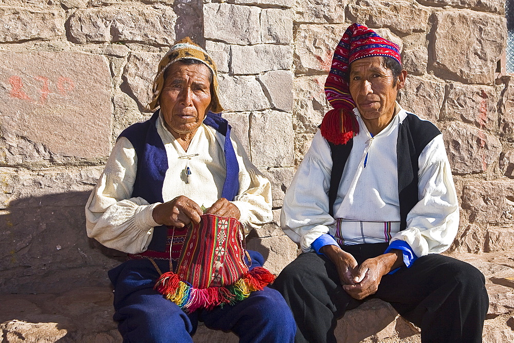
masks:
<path fill-rule="evenodd" d="M 360 264 L 381 255 L 388 243 L 343 246 Z M 337 319 L 361 302 L 341 287 L 335 265 L 304 253 L 271 286 L 282 293 L 297 322 L 297 342 L 335 342 Z M 484 275 L 444 255 L 418 258 L 410 268 L 384 275 L 376 294 L 421 328 L 423 342 L 481 342 L 489 298 Z"/>

